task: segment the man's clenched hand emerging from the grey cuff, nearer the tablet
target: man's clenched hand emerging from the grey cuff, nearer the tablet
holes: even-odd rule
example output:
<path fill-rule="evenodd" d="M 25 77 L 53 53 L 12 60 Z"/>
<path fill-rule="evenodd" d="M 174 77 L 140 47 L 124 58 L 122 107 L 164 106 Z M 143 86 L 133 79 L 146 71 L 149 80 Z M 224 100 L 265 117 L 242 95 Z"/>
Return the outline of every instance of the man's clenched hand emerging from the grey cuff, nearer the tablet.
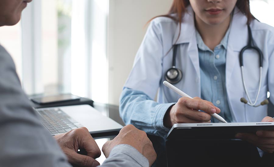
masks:
<path fill-rule="evenodd" d="M 106 158 L 109 156 L 113 147 L 119 144 L 127 144 L 136 148 L 148 161 L 149 166 L 156 160 L 156 152 L 146 132 L 140 131 L 133 125 L 127 125 L 121 129 L 119 134 L 111 141 L 107 141 L 102 148 Z"/>

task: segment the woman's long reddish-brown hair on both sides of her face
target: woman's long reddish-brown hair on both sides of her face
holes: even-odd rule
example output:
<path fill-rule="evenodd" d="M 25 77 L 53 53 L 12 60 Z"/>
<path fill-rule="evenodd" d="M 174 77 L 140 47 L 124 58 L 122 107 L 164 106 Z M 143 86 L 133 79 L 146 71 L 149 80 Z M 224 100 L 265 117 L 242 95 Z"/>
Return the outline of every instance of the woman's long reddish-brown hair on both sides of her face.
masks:
<path fill-rule="evenodd" d="M 184 17 L 186 7 L 189 4 L 190 4 L 189 0 L 173 0 L 173 3 L 171 5 L 169 12 L 166 15 L 159 15 L 156 17 L 161 17 L 161 16 L 168 17 L 170 19 L 173 19 L 177 23 L 179 23 L 179 26 L 180 26 L 179 36 L 180 36 L 182 19 Z M 244 13 L 244 15 L 246 15 L 247 24 L 249 24 L 253 19 L 255 19 L 255 17 L 250 12 L 249 0 L 237 0 L 236 6 L 240 9 L 241 12 Z M 172 14 L 175 14 L 175 15 L 172 15 Z M 150 19 L 149 22 L 155 19 L 156 17 L 153 17 L 152 19 Z"/>

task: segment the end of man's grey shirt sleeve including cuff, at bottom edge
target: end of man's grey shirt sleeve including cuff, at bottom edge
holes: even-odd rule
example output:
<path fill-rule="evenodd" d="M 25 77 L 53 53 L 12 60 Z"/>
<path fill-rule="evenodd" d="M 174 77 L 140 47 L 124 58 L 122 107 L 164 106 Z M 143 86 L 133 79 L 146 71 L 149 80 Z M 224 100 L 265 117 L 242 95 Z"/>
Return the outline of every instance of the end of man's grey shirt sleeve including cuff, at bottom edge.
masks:
<path fill-rule="evenodd" d="M 130 145 L 115 146 L 101 167 L 149 167 L 149 161 Z"/>

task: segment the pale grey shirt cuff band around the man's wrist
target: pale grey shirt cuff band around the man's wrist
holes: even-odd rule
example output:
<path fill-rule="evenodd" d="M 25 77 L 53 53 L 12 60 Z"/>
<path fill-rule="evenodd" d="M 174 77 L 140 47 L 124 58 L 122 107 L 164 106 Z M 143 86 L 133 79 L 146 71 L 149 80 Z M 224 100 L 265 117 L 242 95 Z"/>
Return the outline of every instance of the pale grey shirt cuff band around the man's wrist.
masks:
<path fill-rule="evenodd" d="M 132 159 L 131 162 L 135 161 L 142 167 L 149 166 L 148 159 L 144 157 L 136 148 L 127 144 L 116 145 L 114 148 L 112 148 L 109 157 L 121 153 L 127 155 L 130 159 Z"/>

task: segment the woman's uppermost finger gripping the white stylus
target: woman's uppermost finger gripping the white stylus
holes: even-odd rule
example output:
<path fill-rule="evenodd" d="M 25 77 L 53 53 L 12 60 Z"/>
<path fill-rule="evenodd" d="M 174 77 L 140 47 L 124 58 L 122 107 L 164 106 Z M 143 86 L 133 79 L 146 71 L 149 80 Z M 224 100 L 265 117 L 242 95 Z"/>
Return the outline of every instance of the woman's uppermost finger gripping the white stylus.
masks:
<path fill-rule="evenodd" d="M 195 99 L 182 97 L 178 102 L 188 108 L 193 108 L 194 110 L 202 110 L 209 114 L 216 113 L 216 108 L 213 104 L 211 105 L 207 101 L 201 100 L 200 98 L 198 99 L 197 97 L 195 97 Z"/>

